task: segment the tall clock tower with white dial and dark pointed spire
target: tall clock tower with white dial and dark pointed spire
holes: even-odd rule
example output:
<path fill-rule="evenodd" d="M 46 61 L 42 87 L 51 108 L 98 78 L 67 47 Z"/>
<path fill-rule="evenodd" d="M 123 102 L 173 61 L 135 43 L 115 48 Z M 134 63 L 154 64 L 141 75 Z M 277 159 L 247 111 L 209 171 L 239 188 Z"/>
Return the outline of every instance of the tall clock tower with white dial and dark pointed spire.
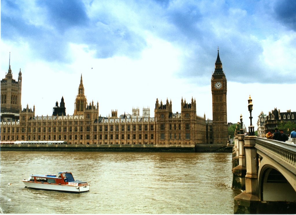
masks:
<path fill-rule="evenodd" d="M 228 143 L 227 127 L 227 80 L 222 69 L 222 62 L 218 56 L 215 63 L 215 72 L 211 79 L 213 104 L 213 143 Z"/>

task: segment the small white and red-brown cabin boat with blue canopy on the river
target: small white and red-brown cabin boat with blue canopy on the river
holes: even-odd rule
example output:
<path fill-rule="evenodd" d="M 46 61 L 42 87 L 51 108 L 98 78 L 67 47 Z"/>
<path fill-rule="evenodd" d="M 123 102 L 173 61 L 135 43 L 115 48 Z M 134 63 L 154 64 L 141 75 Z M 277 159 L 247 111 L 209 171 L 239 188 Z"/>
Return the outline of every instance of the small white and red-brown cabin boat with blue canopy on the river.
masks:
<path fill-rule="evenodd" d="M 22 182 L 26 187 L 42 190 L 58 190 L 65 192 L 89 191 L 87 182 L 75 180 L 71 172 L 59 172 L 57 175 L 30 175 Z"/>

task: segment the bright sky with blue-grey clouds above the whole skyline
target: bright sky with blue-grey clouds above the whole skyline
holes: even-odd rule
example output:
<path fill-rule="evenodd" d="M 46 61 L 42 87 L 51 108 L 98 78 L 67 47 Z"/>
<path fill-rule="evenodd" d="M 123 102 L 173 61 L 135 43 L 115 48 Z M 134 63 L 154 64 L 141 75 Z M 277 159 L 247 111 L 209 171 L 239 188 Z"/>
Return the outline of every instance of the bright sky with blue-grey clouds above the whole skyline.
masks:
<path fill-rule="evenodd" d="M 22 72 L 22 108 L 73 115 L 82 75 L 99 115 L 195 99 L 212 119 L 217 49 L 227 78 L 227 118 L 296 111 L 296 1 L 1 0 L 1 76 Z M 256 126 L 255 126 L 256 129 Z"/>

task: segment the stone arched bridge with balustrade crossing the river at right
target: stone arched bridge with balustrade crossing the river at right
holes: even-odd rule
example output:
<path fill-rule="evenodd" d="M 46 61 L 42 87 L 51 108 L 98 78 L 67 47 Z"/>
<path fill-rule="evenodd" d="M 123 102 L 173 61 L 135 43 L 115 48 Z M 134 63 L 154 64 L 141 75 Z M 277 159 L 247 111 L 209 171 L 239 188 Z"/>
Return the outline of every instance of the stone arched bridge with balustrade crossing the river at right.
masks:
<path fill-rule="evenodd" d="M 232 163 L 234 214 L 296 213 L 296 145 L 237 134 Z"/>

